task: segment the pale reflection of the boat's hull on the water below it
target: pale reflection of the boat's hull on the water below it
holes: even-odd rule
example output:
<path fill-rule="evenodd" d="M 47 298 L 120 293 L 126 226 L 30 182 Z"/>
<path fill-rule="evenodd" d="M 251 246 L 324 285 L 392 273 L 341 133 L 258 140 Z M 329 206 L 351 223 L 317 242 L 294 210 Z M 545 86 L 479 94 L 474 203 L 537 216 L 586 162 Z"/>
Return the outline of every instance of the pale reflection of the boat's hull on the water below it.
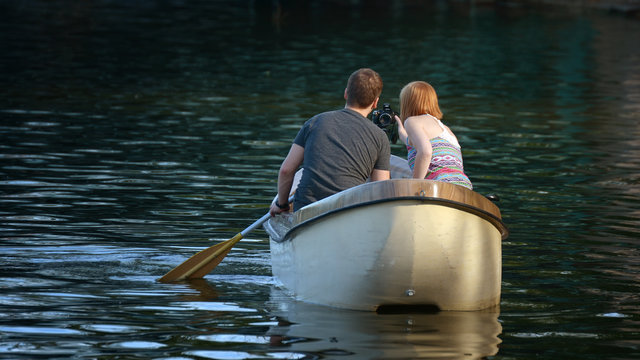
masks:
<path fill-rule="evenodd" d="M 482 359 L 501 340 L 500 312 L 378 315 L 290 300 L 273 289 L 269 305 L 278 325 L 268 334 L 299 353 L 359 359 Z"/>

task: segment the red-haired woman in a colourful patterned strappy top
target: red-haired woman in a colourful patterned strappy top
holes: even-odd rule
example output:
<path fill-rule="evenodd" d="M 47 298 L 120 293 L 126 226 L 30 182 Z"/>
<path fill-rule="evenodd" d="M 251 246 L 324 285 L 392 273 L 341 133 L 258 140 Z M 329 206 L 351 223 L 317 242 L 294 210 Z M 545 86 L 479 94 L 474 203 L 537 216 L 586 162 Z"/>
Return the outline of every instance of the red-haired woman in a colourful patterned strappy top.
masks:
<path fill-rule="evenodd" d="M 464 173 L 458 139 L 440 119 L 438 96 L 431 85 L 414 81 L 400 91 L 398 135 L 407 145 L 414 179 L 438 180 L 473 189 Z"/>

